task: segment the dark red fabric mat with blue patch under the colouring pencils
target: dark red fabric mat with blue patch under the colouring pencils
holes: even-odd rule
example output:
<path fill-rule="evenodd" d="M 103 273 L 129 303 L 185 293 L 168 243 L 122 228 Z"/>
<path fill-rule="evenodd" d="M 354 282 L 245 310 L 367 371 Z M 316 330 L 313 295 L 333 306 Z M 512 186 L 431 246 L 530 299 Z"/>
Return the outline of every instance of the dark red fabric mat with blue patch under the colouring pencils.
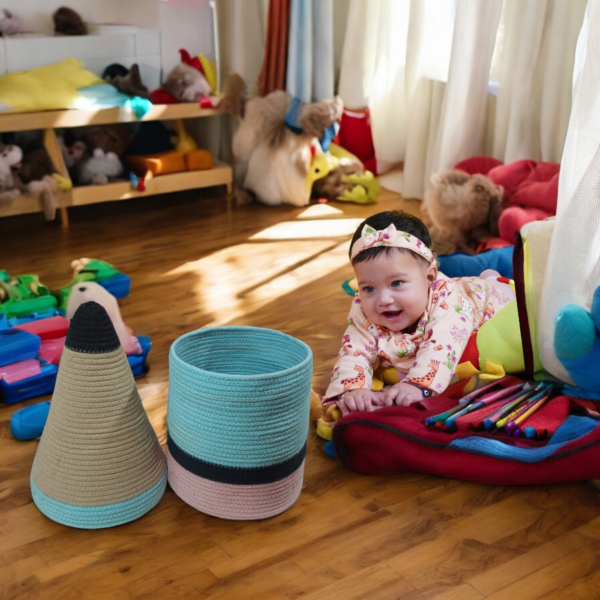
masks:
<path fill-rule="evenodd" d="M 455 406 L 456 400 L 436 396 L 347 415 L 333 429 L 335 454 L 349 469 L 370 475 L 413 471 L 498 485 L 600 477 L 600 419 L 585 401 L 553 397 L 545 416 L 538 414 L 532 437 L 488 431 L 485 419 L 473 417 L 452 428 L 432 422 Z"/>

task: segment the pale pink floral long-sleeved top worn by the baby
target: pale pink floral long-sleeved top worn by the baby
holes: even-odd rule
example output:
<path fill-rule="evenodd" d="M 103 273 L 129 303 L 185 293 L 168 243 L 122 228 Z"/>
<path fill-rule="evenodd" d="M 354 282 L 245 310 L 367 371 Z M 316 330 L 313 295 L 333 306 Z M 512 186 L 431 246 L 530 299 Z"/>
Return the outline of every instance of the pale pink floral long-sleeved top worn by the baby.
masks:
<path fill-rule="evenodd" d="M 494 284 L 479 277 L 450 279 L 439 273 L 413 333 L 370 323 L 356 294 L 323 403 L 331 404 L 353 389 L 371 389 L 379 366 L 395 367 L 401 381 L 441 394 L 471 334 L 514 298 L 505 286 Z"/>

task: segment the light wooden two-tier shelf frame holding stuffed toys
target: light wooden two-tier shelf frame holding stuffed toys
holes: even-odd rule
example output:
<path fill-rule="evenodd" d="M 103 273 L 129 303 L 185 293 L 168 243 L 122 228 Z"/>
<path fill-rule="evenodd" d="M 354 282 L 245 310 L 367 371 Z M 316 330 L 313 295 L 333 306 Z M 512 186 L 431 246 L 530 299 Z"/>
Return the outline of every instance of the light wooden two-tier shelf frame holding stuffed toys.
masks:
<path fill-rule="evenodd" d="M 154 105 L 148 113 L 138 119 L 133 113 L 120 108 L 104 110 L 56 110 L 35 113 L 0 114 L 0 132 L 43 130 L 43 142 L 56 172 L 69 178 L 62 152 L 56 136 L 56 129 L 83 127 L 87 125 L 107 125 L 138 121 L 171 121 L 195 119 L 225 114 L 218 108 L 200 108 L 196 103 Z M 180 190 L 224 185 L 227 187 L 228 205 L 233 183 L 233 169 L 230 165 L 215 161 L 213 168 L 203 171 L 184 171 L 161 175 L 146 182 L 146 190 L 133 189 L 129 181 L 115 181 L 106 185 L 76 186 L 66 192 L 56 192 L 56 202 L 60 211 L 61 223 L 68 226 L 67 209 L 72 206 L 127 200 L 154 194 L 166 194 Z M 0 217 L 42 211 L 42 201 L 37 194 L 22 194 L 10 202 L 0 203 Z"/>

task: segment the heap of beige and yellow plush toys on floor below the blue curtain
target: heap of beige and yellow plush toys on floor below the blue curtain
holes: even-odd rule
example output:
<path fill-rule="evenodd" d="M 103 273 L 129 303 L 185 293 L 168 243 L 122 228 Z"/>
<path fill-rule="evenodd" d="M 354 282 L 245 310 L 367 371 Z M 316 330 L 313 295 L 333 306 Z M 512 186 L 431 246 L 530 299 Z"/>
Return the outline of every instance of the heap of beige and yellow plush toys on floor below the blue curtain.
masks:
<path fill-rule="evenodd" d="M 376 202 L 379 182 L 334 144 L 339 97 L 305 103 L 285 91 L 245 101 L 246 86 L 230 76 L 222 106 L 240 117 L 233 138 L 237 193 L 269 205 L 306 206 L 311 197 Z"/>

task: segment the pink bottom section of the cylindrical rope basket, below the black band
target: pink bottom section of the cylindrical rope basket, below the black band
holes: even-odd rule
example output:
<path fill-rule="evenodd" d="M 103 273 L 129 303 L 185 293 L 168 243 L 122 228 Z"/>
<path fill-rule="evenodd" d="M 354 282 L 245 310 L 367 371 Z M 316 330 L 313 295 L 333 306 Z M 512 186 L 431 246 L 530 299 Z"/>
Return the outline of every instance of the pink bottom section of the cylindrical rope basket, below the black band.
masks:
<path fill-rule="evenodd" d="M 232 485 L 205 479 L 184 469 L 167 449 L 169 485 L 191 507 L 213 517 L 252 521 L 274 517 L 290 508 L 302 490 L 304 461 L 291 475 L 274 483 Z"/>

